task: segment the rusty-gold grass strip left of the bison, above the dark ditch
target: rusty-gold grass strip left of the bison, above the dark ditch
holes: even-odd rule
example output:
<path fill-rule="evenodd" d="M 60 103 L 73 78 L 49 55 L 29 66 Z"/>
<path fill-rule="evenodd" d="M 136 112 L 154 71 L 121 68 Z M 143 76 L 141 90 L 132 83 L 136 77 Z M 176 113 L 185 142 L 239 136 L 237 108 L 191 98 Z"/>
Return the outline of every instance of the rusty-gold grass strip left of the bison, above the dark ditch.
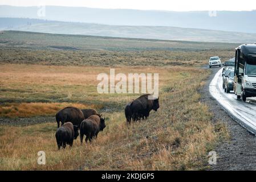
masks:
<path fill-rule="evenodd" d="M 0 105 L 0 117 L 5 118 L 29 118 L 35 116 L 54 116 L 56 112 L 67 106 L 74 106 L 80 109 L 100 109 L 102 105 L 85 105 L 77 103 L 7 103 Z"/>

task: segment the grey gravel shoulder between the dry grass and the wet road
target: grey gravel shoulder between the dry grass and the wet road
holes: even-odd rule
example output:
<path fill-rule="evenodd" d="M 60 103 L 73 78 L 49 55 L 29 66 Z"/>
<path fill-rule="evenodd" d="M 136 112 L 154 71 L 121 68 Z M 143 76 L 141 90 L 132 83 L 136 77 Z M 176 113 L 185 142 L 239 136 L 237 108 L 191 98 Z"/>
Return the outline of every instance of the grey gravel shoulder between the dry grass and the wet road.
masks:
<path fill-rule="evenodd" d="M 220 68 L 213 68 L 212 74 L 202 90 L 201 101 L 209 105 L 214 114 L 213 122 L 226 123 L 230 131 L 230 140 L 220 143 L 217 152 L 217 164 L 211 170 L 256 170 L 256 138 L 235 122 L 209 93 L 209 84 Z"/>

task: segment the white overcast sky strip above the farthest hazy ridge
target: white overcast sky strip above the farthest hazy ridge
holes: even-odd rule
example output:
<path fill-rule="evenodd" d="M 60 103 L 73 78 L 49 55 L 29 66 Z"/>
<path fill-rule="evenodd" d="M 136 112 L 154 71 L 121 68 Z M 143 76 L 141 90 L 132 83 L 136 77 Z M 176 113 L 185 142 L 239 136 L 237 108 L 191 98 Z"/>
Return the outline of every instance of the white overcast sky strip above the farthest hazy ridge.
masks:
<path fill-rule="evenodd" d="M 255 0 L 0 0 L 0 5 L 12 6 L 79 6 L 104 9 L 138 10 L 230 10 L 250 11 L 256 9 Z"/>

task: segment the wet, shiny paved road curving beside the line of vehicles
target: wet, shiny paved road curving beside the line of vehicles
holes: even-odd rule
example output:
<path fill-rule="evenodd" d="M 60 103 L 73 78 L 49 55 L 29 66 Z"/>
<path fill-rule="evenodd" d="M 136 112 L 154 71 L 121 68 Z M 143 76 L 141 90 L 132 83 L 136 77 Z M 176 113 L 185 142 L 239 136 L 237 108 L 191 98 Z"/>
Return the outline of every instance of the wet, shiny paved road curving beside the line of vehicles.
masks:
<path fill-rule="evenodd" d="M 209 91 L 235 121 L 251 133 L 256 134 L 256 104 L 250 102 L 255 101 L 255 98 L 243 102 L 237 100 L 233 92 L 225 93 L 222 89 L 222 69 L 216 73 L 210 82 Z"/>

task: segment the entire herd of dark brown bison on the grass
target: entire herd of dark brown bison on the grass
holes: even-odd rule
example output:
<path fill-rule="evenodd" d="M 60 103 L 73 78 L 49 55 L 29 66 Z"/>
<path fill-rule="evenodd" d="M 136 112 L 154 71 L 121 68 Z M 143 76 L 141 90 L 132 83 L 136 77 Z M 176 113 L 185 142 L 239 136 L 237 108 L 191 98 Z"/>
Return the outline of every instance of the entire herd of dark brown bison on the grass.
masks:
<path fill-rule="evenodd" d="M 150 100 L 150 94 L 144 94 L 136 100 L 132 100 L 125 106 L 125 118 L 127 123 L 147 119 L 151 110 L 159 109 L 159 98 Z M 97 138 L 97 134 L 105 128 L 105 118 L 98 114 L 95 109 L 78 109 L 76 107 L 65 107 L 55 115 L 58 129 L 55 133 L 58 148 L 65 148 L 66 144 L 72 146 L 74 139 L 79 135 L 83 144 L 83 137 L 86 135 L 86 142 Z M 62 123 L 60 127 L 60 122 Z"/>

